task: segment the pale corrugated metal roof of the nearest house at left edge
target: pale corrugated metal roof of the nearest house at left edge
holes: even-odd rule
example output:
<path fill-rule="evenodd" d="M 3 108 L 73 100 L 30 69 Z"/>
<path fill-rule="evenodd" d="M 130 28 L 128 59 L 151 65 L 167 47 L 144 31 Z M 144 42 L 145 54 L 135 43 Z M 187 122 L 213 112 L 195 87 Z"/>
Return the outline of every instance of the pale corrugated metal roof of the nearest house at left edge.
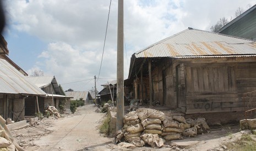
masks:
<path fill-rule="evenodd" d="M 3 59 L 0 59 L 0 93 L 46 95 L 45 92 L 29 82 L 23 74 Z"/>

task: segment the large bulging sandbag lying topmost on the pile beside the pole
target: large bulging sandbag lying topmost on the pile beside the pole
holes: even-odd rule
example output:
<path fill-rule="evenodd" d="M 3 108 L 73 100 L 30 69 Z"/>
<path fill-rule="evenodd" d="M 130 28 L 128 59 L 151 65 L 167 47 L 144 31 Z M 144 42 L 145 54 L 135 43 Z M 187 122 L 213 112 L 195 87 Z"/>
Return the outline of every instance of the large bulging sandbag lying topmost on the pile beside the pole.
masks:
<path fill-rule="evenodd" d="M 151 108 L 138 108 L 136 113 L 141 121 L 147 118 L 165 120 L 165 114 L 163 112 Z"/>

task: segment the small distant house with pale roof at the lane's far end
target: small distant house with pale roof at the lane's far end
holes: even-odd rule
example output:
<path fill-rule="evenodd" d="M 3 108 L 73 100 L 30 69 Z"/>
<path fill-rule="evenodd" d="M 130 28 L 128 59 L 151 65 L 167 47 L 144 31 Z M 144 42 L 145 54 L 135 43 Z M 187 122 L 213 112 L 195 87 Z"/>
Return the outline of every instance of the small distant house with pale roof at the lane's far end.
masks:
<path fill-rule="evenodd" d="M 71 101 L 83 100 L 84 104 L 92 104 L 93 98 L 89 91 L 66 91 L 67 96 L 72 96 Z"/>

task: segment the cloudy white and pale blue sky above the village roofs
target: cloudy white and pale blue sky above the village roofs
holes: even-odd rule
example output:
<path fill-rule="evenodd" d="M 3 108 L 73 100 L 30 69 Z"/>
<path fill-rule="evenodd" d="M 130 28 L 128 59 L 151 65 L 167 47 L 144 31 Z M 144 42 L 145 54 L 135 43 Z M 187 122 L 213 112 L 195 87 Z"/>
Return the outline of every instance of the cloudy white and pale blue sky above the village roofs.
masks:
<path fill-rule="evenodd" d="M 4 37 L 9 57 L 25 71 L 42 69 L 55 75 L 64 90 L 89 90 L 99 74 L 110 1 L 6 0 L 8 25 Z M 210 31 L 220 18 L 235 18 L 238 7 L 250 0 L 124 0 L 124 78 L 136 51 L 188 27 Z M 111 4 L 100 78 L 116 78 L 117 0 Z M 126 56 L 127 54 L 127 56 Z M 99 79 L 99 85 L 107 80 Z"/>

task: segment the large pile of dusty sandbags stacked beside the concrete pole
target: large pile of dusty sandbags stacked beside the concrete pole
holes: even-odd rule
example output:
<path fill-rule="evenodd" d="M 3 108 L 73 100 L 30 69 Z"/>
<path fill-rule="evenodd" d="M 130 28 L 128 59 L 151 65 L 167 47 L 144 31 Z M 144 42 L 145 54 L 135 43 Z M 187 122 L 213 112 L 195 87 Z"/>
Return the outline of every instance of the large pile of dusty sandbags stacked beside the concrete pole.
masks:
<path fill-rule="evenodd" d="M 195 137 L 210 129 L 204 118 L 186 120 L 182 116 L 168 116 L 151 108 L 129 112 L 124 115 L 123 123 L 118 140 L 124 136 L 127 142 L 137 147 L 145 144 L 161 147 L 165 141 L 183 139 L 183 136 Z"/>

